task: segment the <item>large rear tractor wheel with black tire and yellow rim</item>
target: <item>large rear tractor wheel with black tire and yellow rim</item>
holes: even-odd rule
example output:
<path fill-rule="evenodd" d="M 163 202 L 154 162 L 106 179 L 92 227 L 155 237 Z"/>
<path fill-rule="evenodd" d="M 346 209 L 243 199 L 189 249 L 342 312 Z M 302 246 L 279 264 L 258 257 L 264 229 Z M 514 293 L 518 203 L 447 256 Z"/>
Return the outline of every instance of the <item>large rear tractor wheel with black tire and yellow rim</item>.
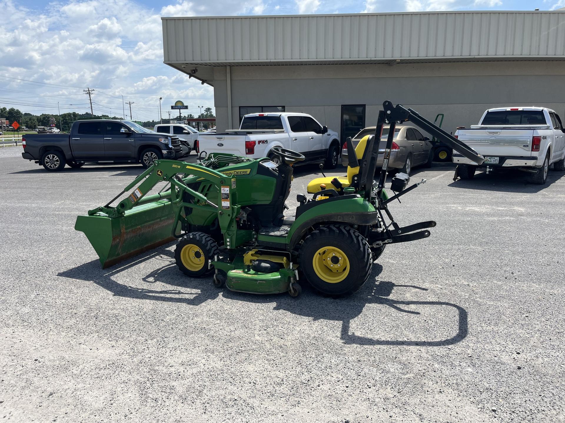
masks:
<path fill-rule="evenodd" d="M 325 264 L 324 254 L 331 257 L 327 261 L 330 266 L 344 264 L 345 276 Z M 312 288 L 328 296 L 340 297 L 353 294 L 363 286 L 371 274 L 373 261 L 369 245 L 359 232 L 347 226 L 330 224 L 319 227 L 306 237 L 298 252 L 298 264 Z"/>

